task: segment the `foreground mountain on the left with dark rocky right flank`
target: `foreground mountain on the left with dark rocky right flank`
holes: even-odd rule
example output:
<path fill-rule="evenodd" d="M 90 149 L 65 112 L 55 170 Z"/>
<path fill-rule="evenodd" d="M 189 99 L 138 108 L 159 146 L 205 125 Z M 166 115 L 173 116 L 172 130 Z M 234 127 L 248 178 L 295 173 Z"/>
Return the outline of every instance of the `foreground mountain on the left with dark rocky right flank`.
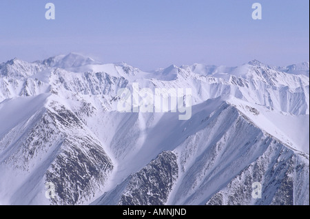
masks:
<path fill-rule="evenodd" d="M 39 100 L 35 100 L 37 98 Z M 12 110 L 12 105 L 22 107 L 8 112 L 8 118 L 24 114 L 17 121 L 19 124 L 9 128 L 0 140 L 1 176 L 10 182 L 8 188 L 1 187 L 1 193 L 12 189 L 12 194 L 5 195 L 12 205 L 40 203 L 36 190 L 44 189 L 45 182 L 56 186 L 57 196 L 51 200 L 52 204 L 83 204 L 103 188 L 113 169 L 96 136 L 85 129 L 72 111 L 51 101 L 52 98 L 45 94 L 35 99 L 17 98 L 8 101 L 4 109 L 1 107 L 1 115 Z M 49 99 L 50 103 L 43 103 Z M 7 106 L 10 109 L 6 109 Z M 26 113 L 21 112 L 23 110 Z M 13 180 L 15 177 L 17 181 Z"/>

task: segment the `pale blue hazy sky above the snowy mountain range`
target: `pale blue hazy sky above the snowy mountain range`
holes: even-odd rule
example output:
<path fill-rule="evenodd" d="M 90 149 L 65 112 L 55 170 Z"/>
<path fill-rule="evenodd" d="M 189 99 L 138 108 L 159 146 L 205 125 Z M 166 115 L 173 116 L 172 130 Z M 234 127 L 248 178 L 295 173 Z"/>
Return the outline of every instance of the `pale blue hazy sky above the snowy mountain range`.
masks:
<path fill-rule="evenodd" d="M 56 20 L 45 19 L 45 3 Z M 262 20 L 253 20 L 252 3 Z M 309 61 L 308 0 L 1 0 L 0 62 L 78 52 L 142 70 Z"/>

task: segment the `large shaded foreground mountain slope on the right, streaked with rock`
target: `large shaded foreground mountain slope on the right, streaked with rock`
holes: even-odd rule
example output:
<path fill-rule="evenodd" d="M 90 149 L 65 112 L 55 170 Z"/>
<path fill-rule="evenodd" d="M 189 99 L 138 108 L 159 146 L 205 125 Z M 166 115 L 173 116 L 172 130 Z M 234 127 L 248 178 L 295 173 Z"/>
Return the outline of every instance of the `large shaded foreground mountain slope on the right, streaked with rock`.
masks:
<path fill-rule="evenodd" d="M 307 205 L 309 193 L 304 192 L 309 189 L 309 154 L 296 152 L 262 132 L 233 105 L 216 102 L 200 105 L 187 123 L 172 129 L 169 136 L 178 139 L 174 144 L 165 136 L 158 140 L 156 148 L 164 150 L 165 156 L 159 155 L 92 204 Z M 212 109 L 214 105 L 219 105 L 216 110 Z M 153 151 L 152 146 L 147 150 Z M 139 156 L 143 154 L 147 156 L 145 151 Z M 154 163 L 174 167 L 157 167 Z M 173 181 L 167 179 L 172 173 L 176 178 Z M 302 180 L 296 180 L 300 177 Z M 151 178 L 155 180 L 148 184 Z M 251 185 L 255 182 L 262 184 L 264 200 L 252 198 Z M 163 189 L 169 196 L 165 202 L 161 198 Z M 150 199 L 152 202 L 143 201 Z"/>

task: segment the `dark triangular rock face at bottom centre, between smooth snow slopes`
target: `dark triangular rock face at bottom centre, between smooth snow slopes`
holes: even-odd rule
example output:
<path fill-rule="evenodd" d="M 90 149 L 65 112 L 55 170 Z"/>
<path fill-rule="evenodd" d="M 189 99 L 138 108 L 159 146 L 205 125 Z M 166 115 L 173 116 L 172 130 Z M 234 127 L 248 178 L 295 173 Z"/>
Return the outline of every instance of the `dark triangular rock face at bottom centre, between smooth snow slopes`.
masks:
<path fill-rule="evenodd" d="M 178 178 L 173 152 L 163 152 L 93 205 L 165 205 Z"/>

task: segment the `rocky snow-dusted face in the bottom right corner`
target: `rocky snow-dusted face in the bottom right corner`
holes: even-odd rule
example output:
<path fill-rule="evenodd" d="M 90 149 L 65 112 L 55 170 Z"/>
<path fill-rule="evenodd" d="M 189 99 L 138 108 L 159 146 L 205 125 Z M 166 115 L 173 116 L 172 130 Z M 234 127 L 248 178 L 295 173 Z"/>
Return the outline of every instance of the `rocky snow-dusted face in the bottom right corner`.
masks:
<path fill-rule="evenodd" d="M 252 198 L 252 182 L 263 182 L 262 198 Z M 282 145 L 275 145 L 211 196 L 206 205 L 309 205 L 307 183 L 309 156 L 296 156 Z"/>

